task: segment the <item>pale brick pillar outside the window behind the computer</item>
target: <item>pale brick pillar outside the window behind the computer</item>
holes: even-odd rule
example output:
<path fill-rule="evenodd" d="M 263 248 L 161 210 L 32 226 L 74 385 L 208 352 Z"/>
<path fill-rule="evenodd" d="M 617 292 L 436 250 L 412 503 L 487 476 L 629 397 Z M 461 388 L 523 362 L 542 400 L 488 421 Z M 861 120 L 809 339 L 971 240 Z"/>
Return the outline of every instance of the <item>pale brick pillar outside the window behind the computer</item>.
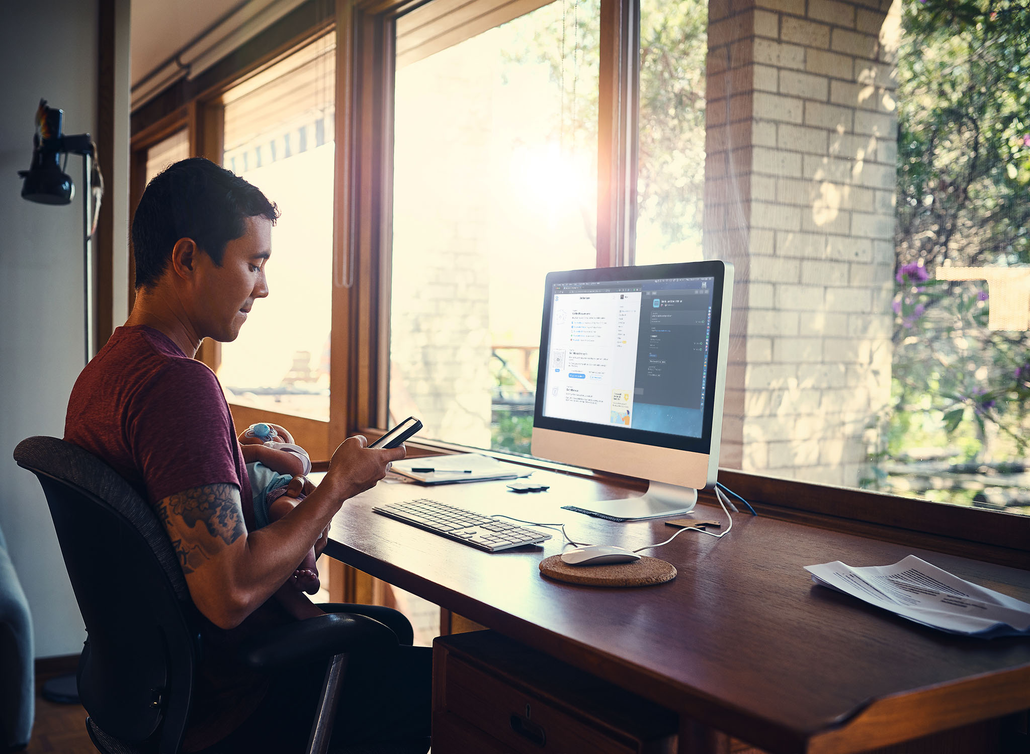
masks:
<path fill-rule="evenodd" d="M 857 485 L 888 405 L 890 3 L 709 3 L 705 252 L 740 280 L 723 466 Z"/>

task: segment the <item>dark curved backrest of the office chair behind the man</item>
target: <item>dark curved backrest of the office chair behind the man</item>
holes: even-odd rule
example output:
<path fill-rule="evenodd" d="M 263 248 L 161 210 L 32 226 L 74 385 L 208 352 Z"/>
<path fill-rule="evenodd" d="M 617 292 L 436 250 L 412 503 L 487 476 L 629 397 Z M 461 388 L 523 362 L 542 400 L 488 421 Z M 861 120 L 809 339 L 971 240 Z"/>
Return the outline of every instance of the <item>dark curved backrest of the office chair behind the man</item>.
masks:
<path fill-rule="evenodd" d="M 52 437 L 23 440 L 18 465 L 43 487 L 88 640 L 82 706 L 138 751 L 177 752 L 199 651 L 196 609 L 150 506 L 110 467 Z"/>

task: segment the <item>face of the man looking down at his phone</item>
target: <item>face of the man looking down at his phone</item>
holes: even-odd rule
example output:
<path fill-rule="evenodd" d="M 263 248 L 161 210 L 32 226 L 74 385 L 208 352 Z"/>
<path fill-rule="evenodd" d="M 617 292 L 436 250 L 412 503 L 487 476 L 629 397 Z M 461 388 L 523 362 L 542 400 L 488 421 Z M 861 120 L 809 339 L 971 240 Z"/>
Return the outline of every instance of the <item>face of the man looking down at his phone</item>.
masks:
<path fill-rule="evenodd" d="M 236 340 L 254 300 L 268 296 L 265 263 L 271 255 L 272 222 L 247 217 L 246 229 L 226 244 L 221 267 L 206 253 L 198 255 L 198 324 L 202 335 L 222 343 Z"/>

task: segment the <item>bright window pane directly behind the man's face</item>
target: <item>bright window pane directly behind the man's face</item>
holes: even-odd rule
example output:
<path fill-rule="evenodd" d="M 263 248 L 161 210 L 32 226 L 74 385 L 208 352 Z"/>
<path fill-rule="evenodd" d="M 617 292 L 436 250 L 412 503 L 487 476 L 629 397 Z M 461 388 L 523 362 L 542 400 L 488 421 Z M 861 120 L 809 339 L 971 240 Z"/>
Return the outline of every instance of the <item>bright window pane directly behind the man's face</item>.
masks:
<path fill-rule="evenodd" d="M 226 95 L 224 165 L 282 216 L 269 298 L 221 348 L 232 401 L 329 420 L 335 49 L 327 35 Z"/>

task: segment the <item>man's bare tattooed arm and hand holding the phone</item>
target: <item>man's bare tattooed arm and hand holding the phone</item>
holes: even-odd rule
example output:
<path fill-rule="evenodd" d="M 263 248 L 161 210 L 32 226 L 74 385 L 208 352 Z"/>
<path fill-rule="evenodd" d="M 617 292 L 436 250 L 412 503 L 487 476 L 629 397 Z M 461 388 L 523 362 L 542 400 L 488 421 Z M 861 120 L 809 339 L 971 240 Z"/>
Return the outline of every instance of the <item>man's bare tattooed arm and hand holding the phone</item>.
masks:
<path fill-rule="evenodd" d="M 233 628 L 288 579 L 343 502 L 386 474 L 392 450 L 350 438 L 333 454 L 324 481 L 293 511 L 247 532 L 235 484 L 206 484 L 170 494 L 158 515 L 179 557 L 194 604 L 212 623 Z"/>

